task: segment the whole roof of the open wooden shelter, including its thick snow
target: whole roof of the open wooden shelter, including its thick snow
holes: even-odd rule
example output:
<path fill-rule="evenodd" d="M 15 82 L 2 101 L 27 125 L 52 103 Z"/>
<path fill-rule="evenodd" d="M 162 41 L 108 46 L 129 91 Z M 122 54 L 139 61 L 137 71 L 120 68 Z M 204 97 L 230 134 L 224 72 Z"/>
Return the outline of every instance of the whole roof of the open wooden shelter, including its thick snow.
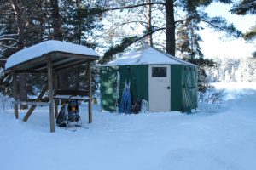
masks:
<path fill-rule="evenodd" d="M 26 71 L 33 68 L 40 70 L 43 67 L 45 68 L 46 58 L 51 58 L 54 69 L 55 67 L 67 64 L 79 64 L 79 62 L 85 60 L 96 60 L 99 57 L 100 55 L 96 51 L 85 46 L 70 42 L 49 40 L 12 54 L 7 59 L 5 69 L 7 71 Z M 24 65 L 25 63 L 27 65 Z"/>

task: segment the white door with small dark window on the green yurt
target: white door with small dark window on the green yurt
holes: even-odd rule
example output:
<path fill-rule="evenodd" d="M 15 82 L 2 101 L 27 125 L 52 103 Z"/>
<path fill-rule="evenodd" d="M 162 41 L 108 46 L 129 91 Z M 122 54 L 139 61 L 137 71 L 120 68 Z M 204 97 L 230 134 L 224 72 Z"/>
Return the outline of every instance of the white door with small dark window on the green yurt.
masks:
<path fill-rule="evenodd" d="M 149 111 L 171 111 L 171 65 L 148 65 Z"/>

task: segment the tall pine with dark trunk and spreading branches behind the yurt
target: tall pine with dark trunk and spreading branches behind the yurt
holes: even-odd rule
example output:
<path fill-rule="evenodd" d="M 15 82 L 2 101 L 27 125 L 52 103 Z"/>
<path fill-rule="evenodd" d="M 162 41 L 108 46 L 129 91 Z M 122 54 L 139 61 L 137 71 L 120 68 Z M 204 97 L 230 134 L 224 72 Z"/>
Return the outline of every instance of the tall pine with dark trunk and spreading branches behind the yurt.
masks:
<path fill-rule="evenodd" d="M 108 2 L 116 2 L 115 0 L 113 1 L 108 1 Z M 213 0 L 189 0 L 189 1 L 183 1 L 183 0 L 177 0 L 177 1 L 164 1 L 164 0 L 159 0 L 159 1 L 137 1 L 136 3 L 133 1 L 129 2 L 123 2 L 123 3 L 117 3 L 118 5 L 114 6 L 113 8 L 105 8 L 103 12 L 106 11 L 113 11 L 113 10 L 134 10 L 134 8 L 146 8 L 148 5 L 151 6 L 151 8 L 154 9 L 160 9 L 158 13 L 156 14 L 163 14 L 164 15 L 164 20 L 154 20 L 154 15 L 152 15 L 152 26 L 151 30 L 152 31 L 143 31 L 143 35 L 139 35 L 137 38 L 135 38 L 133 41 L 129 42 L 129 45 L 127 46 L 125 43 L 125 48 L 131 46 L 131 44 L 141 40 L 142 37 L 148 37 L 148 35 L 156 34 L 157 31 L 165 31 L 166 34 L 166 43 L 164 44 L 166 47 L 166 52 L 168 54 L 175 55 L 175 30 L 178 28 L 178 26 L 183 25 L 183 22 L 188 22 L 189 20 L 191 21 L 187 26 L 191 26 L 192 22 L 195 24 L 199 23 L 205 23 L 208 26 L 212 27 L 214 31 L 225 31 L 227 32 L 227 35 L 229 36 L 234 36 L 234 37 L 240 37 L 241 32 L 237 31 L 236 28 L 232 24 L 228 24 L 224 18 L 221 17 L 209 17 L 205 12 L 204 8 L 206 8 L 208 5 L 213 3 L 215 1 Z M 219 0 L 221 3 L 231 3 L 230 0 Z M 113 3 L 111 3 L 113 4 Z M 123 6 L 122 6 L 123 5 Z M 164 8 L 163 8 L 164 7 Z M 183 11 L 182 13 L 180 11 Z M 185 14 L 185 15 L 183 15 Z M 130 16 L 130 15 L 129 15 Z M 147 20 L 140 20 L 141 22 L 146 22 Z M 160 22 L 164 22 L 164 25 L 162 26 L 159 24 Z M 139 21 L 137 21 L 139 23 Z M 125 23 L 126 25 L 127 23 Z M 132 25 L 128 25 L 132 26 Z M 159 35 L 159 34 L 158 34 Z M 200 37 L 195 37 L 194 35 L 194 40 L 195 38 L 200 38 Z M 132 36 L 133 37 L 133 36 Z M 127 40 L 129 38 L 125 37 L 124 40 Z M 153 38 L 154 39 L 154 38 Z M 119 42 L 124 42 L 124 40 L 120 40 Z M 193 40 L 193 41 L 194 41 Z M 196 41 L 194 41 L 194 44 Z M 119 46 L 122 44 L 120 43 Z M 115 48 L 111 47 L 109 50 L 114 51 Z M 197 51 L 199 54 L 201 50 L 198 50 L 200 48 L 197 48 L 196 50 L 193 50 L 193 52 Z M 112 53 L 113 54 L 113 53 Z M 117 54 L 117 53 L 116 53 Z M 104 55 L 103 58 L 111 58 L 111 56 Z M 107 61 L 109 59 L 102 59 L 102 61 Z"/>

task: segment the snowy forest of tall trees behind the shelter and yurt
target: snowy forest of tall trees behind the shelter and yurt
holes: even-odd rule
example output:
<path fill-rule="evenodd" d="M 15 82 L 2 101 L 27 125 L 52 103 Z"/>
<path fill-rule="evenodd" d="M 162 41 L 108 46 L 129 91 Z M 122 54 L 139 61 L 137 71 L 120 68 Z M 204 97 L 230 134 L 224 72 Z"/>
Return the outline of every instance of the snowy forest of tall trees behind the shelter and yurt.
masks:
<path fill-rule="evenodd" d="M 243 38 L 255 47 L 256 21 L 249 30 L 240 31 L 221 11 L 218 15 L 218 9 L 216 16 L 208 14 L 212 3 L 229 5 L 225 12 L 230 14 L 256 14 L 254 0 L 0 0 L 0 93 L 12 95 L 12 77 L 3 73 L 4 61 L 23 48 L 52 39 L 102 54 L 93 65 L 93 91 L 98 88 L 98 65 L 145 44 L 199 65 L 200 91 L 208 88 L 208 82 L 255 82 L 255 52 L 242 59 L 209 59 L 201 50 L 205 43 L 200 32 L 206 29 L 220 32 L 226 42 Z M 60 88 L 86 88 L 83 65 L 59 71 L 58 77 Z M 20 74 L 20 99 L 37 94 L 45 81 L 44 74 Z"/>

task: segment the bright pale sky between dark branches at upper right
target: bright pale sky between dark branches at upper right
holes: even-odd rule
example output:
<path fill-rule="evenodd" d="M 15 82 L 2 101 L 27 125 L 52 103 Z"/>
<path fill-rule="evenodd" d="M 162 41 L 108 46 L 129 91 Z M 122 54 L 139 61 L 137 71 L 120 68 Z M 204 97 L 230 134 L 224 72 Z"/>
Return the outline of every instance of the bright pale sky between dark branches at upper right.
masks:
<path fill-rule="evenodd" d="M 255 15 L 240 16 L 230 14 L 229 10 L 230 5 L 224 5 L 223 3 L 212 3 L 207 8 L 210 16 L 224 16 L 242 32 L 249 31 L 252 26 L 255 26 Z M 201 50 L 207 58 L 246 58 L 251 57 L 253 51 L 256 51 L 256 40 L 248 43 L 242 38 L 236 40 L 225 39 L 222 33 L 213 32 L 210 29 L 201 31 L 201 37 L 203 39 Z"/>

